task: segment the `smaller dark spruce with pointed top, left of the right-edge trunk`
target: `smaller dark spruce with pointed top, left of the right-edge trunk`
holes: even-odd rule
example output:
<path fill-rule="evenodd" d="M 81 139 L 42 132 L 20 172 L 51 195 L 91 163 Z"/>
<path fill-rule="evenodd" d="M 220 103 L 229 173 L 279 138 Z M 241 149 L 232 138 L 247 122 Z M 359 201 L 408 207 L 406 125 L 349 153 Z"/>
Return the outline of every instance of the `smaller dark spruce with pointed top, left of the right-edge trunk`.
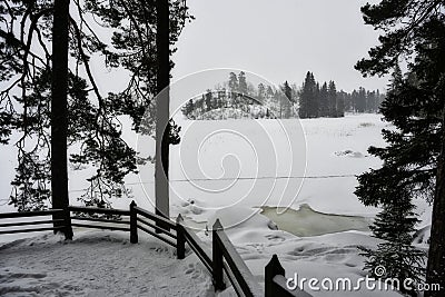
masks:
<path fill-rule="evenodd" d="M 388 101 L 382 107 L 382 112 L 386 119 L 398 115 L 397 101 L 403 92 L 404 83 L 402 73 L 393 73 L 392 85 L 388 89 Z M 396 108 L 396 109 L 395 109 Z M 400 126 L 402 127 L 402 126 Z M 378 265 L 384 265 L 388 275 L 385 277 L 405 279 L 411 277 L 415 280 L 422 278 L 422 263 L 424 254 L 412 246 L 415 224 L 418 221 L 414 214 L 411 195 L 415 192 L 425 180 L 422 170 L 412 171 L 409 167 L 403 166 L 409 162 L 406 155 L 400 152 L 407 142 L 403 131 L 383 130 L 385 140 L 389 143 L 387 148 L 370 147 L 369 152 L 383 159 L 384 166 L 380 169 L 372 170 L 358 177 L 359 186 L 356 195 L 365 205 L 382 206 L 383 210 L 374 222 L 372 230 L 375 237 L 385 240 L 376 250 L 366 250 L 368 261 L 366 268 L 373 273 Z M 412 154 L 422 149 L 425 143 L 412 143 Z M 422 160 L 423 164 L 425 160 Z M 409 184 L 409 179 L 414 178 Z M 419 184 L 417 184 L 419 182 Z M 421 187 L 424 187 L 422 185 Z M 423 190 L 417 190 L 418 195 L 424 195 Z M 414 294 L 414 293 L 412 293 Z"/>

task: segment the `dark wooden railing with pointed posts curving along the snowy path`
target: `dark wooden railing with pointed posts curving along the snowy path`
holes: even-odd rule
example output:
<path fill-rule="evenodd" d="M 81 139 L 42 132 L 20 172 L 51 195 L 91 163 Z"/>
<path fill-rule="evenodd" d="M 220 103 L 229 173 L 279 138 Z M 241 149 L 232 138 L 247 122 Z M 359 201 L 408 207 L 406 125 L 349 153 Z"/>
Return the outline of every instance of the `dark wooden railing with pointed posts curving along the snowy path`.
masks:
<path fill-rule="evenodd" d="M 85 216 L 85 215 L 90 216 Z M 93 215 L 102 215 L 95 217 Z M 65 219 L 47 219 L 32 221 L 14 221 L 0 224 L 1 234 L 33 232 L 44 230 L 69 230 L 71 226 L 82 228 L 110 229 L 130 232 L 130 242 L 137 244 L 139 240 L 138 230 L 142 230 L 166 244 L 176 248 L 178 259 L 184 259 L 186 255 L 186 244 L 195 253 L 202 265 L 211 275 L 215 290 L 226 288 L 227 279 L 233 285 L 238 296 L 298 296 L 310 297 L 309 294 L 296 289 L 289 290 L 286 287 L 285 269 L 279 264 L 276 255 L 265 267 L 265 293 L 261 293 L 259 284 L 241 259 L 236 248 L 224 231 L 219 220 L 212 226 L 211 251 L 207 249 L 199 237 L 184 224 L 179 215 L 174 222 L 168 218 L 152 214 L 139 208 L 135 201 L 130 204 L 129 210 L 107 209 L 93 207 L 69 206 L 67 210 L 50 209 L 29 212 L 8 212 L 0 214 L 0 219 L 56 216 Z M 19 226 L 34 226 L 41 224 L 52 224 L 52 227 L 10 229 Z M 9 228 L 2 230 L 2 228 Z"/>

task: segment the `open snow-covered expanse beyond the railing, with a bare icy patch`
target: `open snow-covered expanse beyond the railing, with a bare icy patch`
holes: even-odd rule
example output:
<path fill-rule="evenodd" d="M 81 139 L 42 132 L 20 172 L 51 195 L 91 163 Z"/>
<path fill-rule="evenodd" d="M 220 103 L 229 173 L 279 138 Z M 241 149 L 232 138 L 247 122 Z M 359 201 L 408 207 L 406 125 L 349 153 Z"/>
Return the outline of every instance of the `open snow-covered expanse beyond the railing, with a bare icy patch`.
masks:
<path fill-rule="evenodd" d="M 374 247 L 378 242 L 364 227 L 378 209 L 364 207 L 358 201 L 354 195 L 355 175 L 380 166 L 377 158 L 367 154 L 369 146 L 385 145 L 380 130 L 392 128 L 379 115 L 300 121 L 179 119 L 178 122 L 182 126 L 182 141 L 171 148 L 170 155 L 172 217 L 182 214 L 208 245 L 210 237 L 205 227 L 220 218 L 259 281 L 264 281 L 264 267 L 273 254 L 278 255 L 288 277 L 297 273 L 306 278 L 348 277 L 354 283 L 365 275 L 357 245 Z M 138 139 L 137 147 L 145 154 L 154 152 L 150 139 Z M 152 209 L 154 168 L 145 166 L 140 171 L 140 176 L 128 178 L 134 197 L 117 200 L 115 207 L 127 208 L 135 199 L 139 206 Z M 79 192 L 75 190 L 86 185 L 81 172 L 70 172 L 70 177 L 73 190 L 70 195 L 76 202 Z M 431 209 L 423 200 L 416 205 L 423 220 L 419 227 L 426 227 L 427 232 Z M 281 214 L 288 207 L 291 209 Z M 259 214 L 261 208 L 267 209 L 264 214 L 268 217 Z M 179 296 L 211 294 L 208 276 L 195 256 L 177 261 L 171 250 L 160 248 L 160 242 L 131 246 L 118 232 L 103 234 L 108 236 L 103 238 L 97 232 L 75 232 L 72 242 L 40 236 L 3 246 L 0 249 L 2 288 L 21 289 L 19 296 L 28 287 L 47 288 L 55 295 L 60 291 L 71 295 L 81 289 L 80 295 L 90 293 L 91 296 L 138 295 L 144 288 L 151 288 L 154 293 L 159 289 L 159 296 L 175 296 L 174 291 L 161 290 L 161 284 L 174 281 L 176 288 L 184 289 L 177 291 Z M 111 256 L 106 257 L 107 254 Z M 73 268 L 67 268 L 66 261 L 72 263 Z M 120 270 L 113 269 L 117 266 Z M 57 270 L 60 274 L 51 273 L 55 267 L 61 269 Z M 154 275 L 150 267 L 161 269 L 162 274 Z M 192 273 L 187 274 L 187 269 Z M 88 279 L 90 275 L 93 280 Z M 176 278 L 171 280 L 171 276 Z M 111 286 L 108 291 L 106 284 Z M 310 293 L 314 296 L 399 296 L 394 291 L 366 289 Z M 234 293 L 227 289 L 221 296 L 226 295 Z"/>

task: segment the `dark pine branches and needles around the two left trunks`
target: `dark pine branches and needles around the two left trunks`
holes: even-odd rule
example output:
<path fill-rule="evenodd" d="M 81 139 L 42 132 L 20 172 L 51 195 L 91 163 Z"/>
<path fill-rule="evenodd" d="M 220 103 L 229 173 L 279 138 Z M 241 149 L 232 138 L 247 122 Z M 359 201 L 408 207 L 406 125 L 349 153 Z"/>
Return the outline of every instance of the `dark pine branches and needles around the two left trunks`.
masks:
<path fill-rule="evenodd" d="M 75 1 L 76 9 L 67 12 L 67 2 L 0 2 L 0 19 L 4 23 L 0 28 L 0 142 L 8 143 L 12 131 L 21 133 L 16 143 L 17 175 L 11 182 L 17 191 L 10 200 L 19 211 L 48 207 L 50 182 L 55 187 L 53 198 L 63 196 L 67 200 L 67 141 L 73 145 L 68 161 L 75 168 L 90 165 L 96 169 L 88 178 L 90 187 L 79 198 L 87 205 L 107 206 L 107 197 L 126 192 L 125 176 L 135 172 L 137 162 L 144 161 L 121 138 L 119 117 L 129 116 L 135 130 L 152 132 L 151 119 L 144 125 L 141 119 L 146 109 L 152 109 L 150 100 L 157 93 L 156 40 L 155 34 L 146 33 L 156 28 L 154 6 L 139 0 L 86 0 Z M 59 12 L 53 17 L 55 11 Z M 190 16 L 184 1 L 171 1 L 170 11 L 172 43 Z M 62 23 L 68 19 L 69 24 L 59 26 L 63 18 Z M 93 18 L 100 19 L 97 23 L 112 34 L 110 44 L 96 34 L 92 28 L 97 23 L 89 23 Z M 68 69 L 61 61 L 66 32 L 71 59 Z M 52 50 L 48 48 L 51 40 Z M 90 67 L 92 55 L 102 55 L 105 67 L 123 67 L 129 71 L 131 79 L 122 92 L 103 96 L 99 91 Z M 58 80 L 59 87 L 51 88 L 51 79 Z M 51 105 L 52 99 L 60 101 Z M 52 139 L 51 125 L 56 128 Z M 51 161 L 52 170 L 48 168 Z M 58 206 L 57 201 L 53 206 Z"/>

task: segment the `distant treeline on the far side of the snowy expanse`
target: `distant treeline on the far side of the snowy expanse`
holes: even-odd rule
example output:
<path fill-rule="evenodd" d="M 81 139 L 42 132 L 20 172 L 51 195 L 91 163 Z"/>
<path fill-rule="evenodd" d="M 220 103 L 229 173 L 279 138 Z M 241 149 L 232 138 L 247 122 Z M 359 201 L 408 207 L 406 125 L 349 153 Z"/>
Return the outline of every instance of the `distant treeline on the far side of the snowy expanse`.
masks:
<path fill-rule="evenodd" d="M 333 80 L 320 85 L 312 72 L 299 89 L 287 81 L 278 88 L 255 87 L 241 71 L 230 72 L 228 81 L 190 99 L 182 113 L 188 119 L 344 117 L 345 111 L 377 112 L 383 99 L 378 90 L 362 87 L 350 93 L 337 91 Z"/>

